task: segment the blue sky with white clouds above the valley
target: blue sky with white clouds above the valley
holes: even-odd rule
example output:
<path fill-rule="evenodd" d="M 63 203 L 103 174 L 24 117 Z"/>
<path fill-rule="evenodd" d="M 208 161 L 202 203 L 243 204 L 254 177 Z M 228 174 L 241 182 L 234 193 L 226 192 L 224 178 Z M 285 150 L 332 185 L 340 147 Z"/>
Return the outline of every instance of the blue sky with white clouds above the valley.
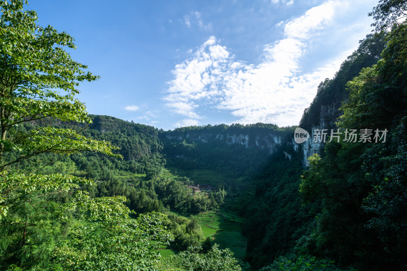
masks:
<path fill-rule="evenodd" d="M 164 130 L 298 125 L 325 78 L 370 33 L 377 0 L 31 0 L 38 23 L 75 38 L 89 113 Z"/>

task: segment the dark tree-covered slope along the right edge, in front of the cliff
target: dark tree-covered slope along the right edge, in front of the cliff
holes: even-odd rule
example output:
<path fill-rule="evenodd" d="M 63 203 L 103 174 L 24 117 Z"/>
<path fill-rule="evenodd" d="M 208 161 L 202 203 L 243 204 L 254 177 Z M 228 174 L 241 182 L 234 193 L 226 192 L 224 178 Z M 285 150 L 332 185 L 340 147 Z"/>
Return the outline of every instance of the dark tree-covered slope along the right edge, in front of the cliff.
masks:
<path fill-rule="evenodd" d="M 386 139 L 328 143 L 300 186 L 306 201 L 322 200 L 310 250 L 361 269 L 406 267 L 406 29 L 394 25 L 382 59 L 347 83 L 338 122 L 343 130 L 388 131 Z"/>

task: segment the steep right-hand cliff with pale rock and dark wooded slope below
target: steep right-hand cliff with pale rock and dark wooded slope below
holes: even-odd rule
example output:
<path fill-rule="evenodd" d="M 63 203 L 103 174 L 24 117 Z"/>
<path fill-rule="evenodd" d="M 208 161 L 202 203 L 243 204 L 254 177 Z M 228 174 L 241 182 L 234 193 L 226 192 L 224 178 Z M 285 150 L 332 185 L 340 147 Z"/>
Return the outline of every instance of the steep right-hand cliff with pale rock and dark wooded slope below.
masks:
<path fill-rule="evenodd" d="M 362 40 L 359 48 L 342 63 L 335 77 L 319 85 L 313 102 L 304 111 L 300 127 L 309 132 L 314 128 L 333 129 L 340 115 L 339 106 L 347 98 L 346 82 L 363 67 L 377 63 L 383 48 L 383 35 L 371 34 Z M 293 156 L 291 161 L 284 159 L 281 152 L 274 155 L 265 172 L 257 177 L 255 193 L 246 201 L 255 203 L 246 204 L 241 212 L 248 214 L 245 226 L 249 237 L 248 257 L 258 267 L 287 253 L 300 238 L 304 238 L 303 235 L 313 230 L 314 217 L 321 212 L 321 202 L 304 204 L 298 188 L 304 161 L 323 150 L 321 144 L 313 142 L 311 134 L 308 141 L 299 145 L 301 154 Z"/>

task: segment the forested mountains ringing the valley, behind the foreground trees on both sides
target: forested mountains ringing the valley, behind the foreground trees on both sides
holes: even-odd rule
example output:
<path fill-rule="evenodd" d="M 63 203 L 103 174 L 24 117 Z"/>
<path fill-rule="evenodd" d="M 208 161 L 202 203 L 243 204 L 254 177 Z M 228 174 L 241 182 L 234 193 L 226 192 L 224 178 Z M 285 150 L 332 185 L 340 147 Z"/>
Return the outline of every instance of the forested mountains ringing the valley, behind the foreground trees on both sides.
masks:
<path fill-rule="evenodd" d="M 368 35 L 362 40 L 358 50 L 346 59 L 335 77 L 319 85 L 300 126 L 310 132 L 315 128 L 334 128 L 334 121 L 342 112 L 340 104 L 347 99 L 346 82 L 358 74 L 358 69 L 377 63 L 384 44 L 383 34 Z M 334 110 L 327 110 L 329 108 Z M 270 264 L 279 256 L 296 255 L 289 253 L 299 251 L 334 259 L 340 264 L 354 263 L 312 250 L 318 246 L 312 245 L 314 231 L 319 227 L 315 216 L 325 212 L 326 203 L 317 197 L 304 202 L 298 191 L 304 160 L 317 150 L 322 156 L 326 152 L 323 152 L 323 145 L 306 152 L 306 144 L 311 147 L 314 144 L 311 139 L 302 145 L 296 144 L 293 137 L 295 127 L 235 124 L 163 131 L 110 116 L 90 117 L 93 123 L 89 126 L 45 118 L 25 124 L 23 129 L 30 131 L 38 126 L 76 129 L 86 137 L 118 146 L 119 150 L 114 152 L 122 155 L 123 160 L 85 152 L 65 157 L 53 166 L 44 165 L 40 172 L 71 173 L 91 178 L 98 182 L 85 189 L 92 196 L 126 196 L 129 199 L 127 206 L 137 213 L 171 210 L 180 214 L 198 214 L 217 208 L 226 200 L 224 207 L 246 219 L 243 227 L 243 233 L 248 237 L 246 260 L 254 268 Z M 43 157 L 43 160 L 48 159 Z M 18 163 L 19 169 L 30 165 L 28 160 Z M 227 189 L 219 187 L 208 197 L 195 198 L 187 188 L 194 184 L 193 181 L 170 174 L 166 170 L 168 167 L 223 172 L 229 177 L 221 182 Z M 228 193 L 232 197 L 225 197 Z M 199 231 L 176 230 L 179 226 L 175 221 L 180 218 L 170 218 L 166 222 L 168 227 L 178 231 L 173 248 L 186 249 L 188 245 L 205 240 Z M 193 222 L 185 220 L 182 223 Z"/>

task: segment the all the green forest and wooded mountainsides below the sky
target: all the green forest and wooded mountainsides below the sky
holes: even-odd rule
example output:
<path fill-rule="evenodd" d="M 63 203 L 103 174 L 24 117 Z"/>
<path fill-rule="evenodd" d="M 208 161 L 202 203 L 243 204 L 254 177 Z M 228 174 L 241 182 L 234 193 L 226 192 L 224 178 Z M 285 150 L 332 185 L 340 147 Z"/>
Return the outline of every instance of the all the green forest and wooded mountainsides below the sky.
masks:
<path fill-rule="evenodd" d="M 0 269 L 407 269 L 407 2 L 380 1 L 374 33 L 319 84 L 299 127 L 346 133 L 309 166 L 296 127 L 88 114 L 76 87 L 98 76 L 64 50 L 73 38 L 0 6 Z M 215 238 L 233 229 L 244 257 Z"/>

